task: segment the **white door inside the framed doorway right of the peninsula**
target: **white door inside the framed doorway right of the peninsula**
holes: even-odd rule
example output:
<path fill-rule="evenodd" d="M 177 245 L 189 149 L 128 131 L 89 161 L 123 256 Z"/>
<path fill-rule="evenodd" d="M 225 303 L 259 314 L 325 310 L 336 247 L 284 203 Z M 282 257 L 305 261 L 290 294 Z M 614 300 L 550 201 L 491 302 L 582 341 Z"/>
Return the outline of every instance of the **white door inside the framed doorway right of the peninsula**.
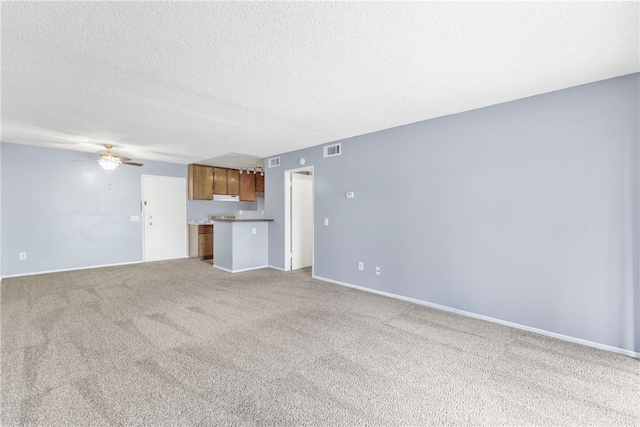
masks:
<path fill-rule="evenodd" d="M 291 174 L 291 269 L 309 267 L 313 257 L 313 176 Z"/>

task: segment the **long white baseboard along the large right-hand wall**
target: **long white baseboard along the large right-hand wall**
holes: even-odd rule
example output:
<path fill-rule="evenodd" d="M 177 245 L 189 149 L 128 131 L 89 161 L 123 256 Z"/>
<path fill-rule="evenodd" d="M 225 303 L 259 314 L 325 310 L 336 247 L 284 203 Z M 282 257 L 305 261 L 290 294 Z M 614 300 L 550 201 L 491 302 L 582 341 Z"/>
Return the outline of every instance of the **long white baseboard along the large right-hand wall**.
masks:
<path fill-rule="evenodd" d="M 573 342 L 573 343 L 576 343 L 576 344 L 582 344 L 582 345 L 586 345 L 588 347 L 594 347 L 594 348 L 597 348 L 597 349 L 600 349 L 600 350 L 606 350 L 606 351 L 610 351 L 610 352 L 613 352 L 613 353 L 624 354 L 625 356 L 630 356 L 630 357 L 634 357 L 636 359 L 640 359 L 640 353 L 639 352 L 635 352 L 635 351 L 632 351 L 632 350 L 627 350 L 627 349 L 624 349 L 624 348 L 613 347 L 613 346 L 606 345 L 606 344 L 600 344 L 600 343 L 593 342 L 593 341 L 583 340 L 581 338 L 576 338 L 576 337 L 571 337 L 571 336 L 568 336 L 568 335 L 557 334 L 555 332 L 545 331 L 544 329 L 532 328 L 530 326 L 521 325 L 519 323 L 513 323 L 513 322 L 506 321 L 506 320 L 496 319 L 495 317 L 483 316 L 482 314 L 476 314 L 476 313 L 472 313 L 470 311 L 458 310 L 457 308 L 451 308 L 451 307 L 447 307 L 445 305 L 434 304 L 432 302 L 423 301 L 423 300 L 419 300 L 419 299 L 416 299 L 416 298 L 410 298 L 410 297 L 405 297 L 405 296 L 402 296 L 402 295 L 392 294 L 392 293 L 389 293 L 389 292 L 378 291 L 378 290 L 375 290 L 375 289 L 366 288 L 364 286 L 352 285 L 350 283 L 340 282 L 338 280 L 327 279 L 326 277 L 313 276 L 313 278 L 317 279 L 317 280 L 322 280 L 324 282 L 329 282 L 329 283 L 333 283 L 333 284 L 336 284 L 336 285 L 340 285 L 340 286 L 346 286 L 348 288 L 354 288 L 354 289 L 358 289 L 358 290 L 361 290 L 361 291 L 371 292 L 371 293 L 378 294 L 378 295 L 383 295 L 383 296 L 389 297 L 389 298 L 395 298 L 395 299 L 399 299 L 399 300 L 403 300 L 403 301 L 408 301 L 408 302 L 412 302 L 412 303 L 415 303 L 415 304 L 424 305 L 426 307 L 436 308 L 438 310 L 448 311 L 450 313 L 456 313 L 456 314 L 460 314 L 462 316 L 473 317 L 475 319 L 486 320 L 488 322 L 498 323 L 500 325 L 510 326 L 512 328 L 521 329 L 521 330 L 528 331 L 528 332 L 534 332 L 536 334 L 545 335 L 545 336 L 548 336 L 548 337 L 551 337 L 551 338 L 557 338 L 557 339 L 560 339 L 560 340 L 569 341 L 569 342 Z"/>

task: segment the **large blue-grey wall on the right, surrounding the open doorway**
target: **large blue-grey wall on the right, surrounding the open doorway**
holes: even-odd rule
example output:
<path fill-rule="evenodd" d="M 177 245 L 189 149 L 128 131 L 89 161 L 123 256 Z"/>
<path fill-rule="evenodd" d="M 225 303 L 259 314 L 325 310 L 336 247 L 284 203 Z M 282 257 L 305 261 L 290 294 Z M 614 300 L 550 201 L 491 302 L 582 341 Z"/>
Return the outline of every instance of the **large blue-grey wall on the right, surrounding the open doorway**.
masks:
<path fill-rule="evenodd" d="M 284 265 L 284 171 L 305 157 L 316 276 L 640 352 L 639 86 L 349 138 L 339 157 L 282 154 L 265 180 L 269 264 Z"/>

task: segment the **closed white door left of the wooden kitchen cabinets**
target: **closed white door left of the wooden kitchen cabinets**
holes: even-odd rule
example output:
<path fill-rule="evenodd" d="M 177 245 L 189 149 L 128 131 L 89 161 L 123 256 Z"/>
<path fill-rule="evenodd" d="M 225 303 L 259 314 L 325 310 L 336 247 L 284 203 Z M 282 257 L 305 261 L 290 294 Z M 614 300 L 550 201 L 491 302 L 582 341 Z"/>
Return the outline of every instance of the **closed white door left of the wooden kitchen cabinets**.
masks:
<path fill-rule="evenodd" d="M 187 256 L 187 181 L 168 176 L 142 176 L 144 260 Z"/>

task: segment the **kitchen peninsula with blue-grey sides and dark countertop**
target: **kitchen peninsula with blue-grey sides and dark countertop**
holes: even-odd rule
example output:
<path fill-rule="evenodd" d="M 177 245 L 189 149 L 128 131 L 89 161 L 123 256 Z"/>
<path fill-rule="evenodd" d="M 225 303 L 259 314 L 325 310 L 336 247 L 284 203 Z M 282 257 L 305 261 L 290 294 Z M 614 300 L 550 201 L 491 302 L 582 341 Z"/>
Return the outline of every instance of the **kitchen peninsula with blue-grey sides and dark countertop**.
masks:
<path fill-rule="evenodd" d="M 238 273 L 267 267 L 271 219 L 213 218 L 213 266 Z"/>

